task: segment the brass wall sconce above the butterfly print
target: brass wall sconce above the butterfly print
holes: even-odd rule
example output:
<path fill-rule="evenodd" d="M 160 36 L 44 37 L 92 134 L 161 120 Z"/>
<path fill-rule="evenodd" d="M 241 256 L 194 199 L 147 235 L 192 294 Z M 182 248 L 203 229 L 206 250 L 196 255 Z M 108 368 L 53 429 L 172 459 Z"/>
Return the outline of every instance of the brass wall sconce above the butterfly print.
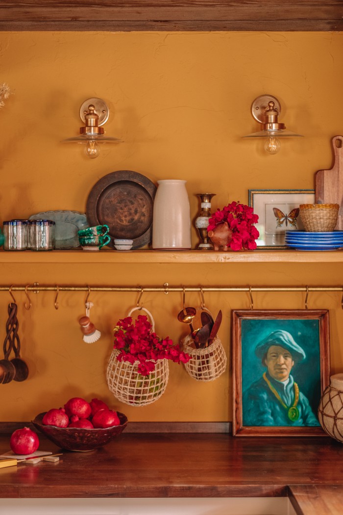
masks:
<path fill-rule="evenodd" d="M 280 150 L 279 138 L 302 136 L 286 130 L 285 124 L 279 122 L 280 113 L 280 102 L 274 96 L 261 95 L 255 98 L 251 105 L 251 114 L 261 124 L 261 130 L 247 134 L 243 138 L 266 138 L 264 149 L 273 155 Z"/>

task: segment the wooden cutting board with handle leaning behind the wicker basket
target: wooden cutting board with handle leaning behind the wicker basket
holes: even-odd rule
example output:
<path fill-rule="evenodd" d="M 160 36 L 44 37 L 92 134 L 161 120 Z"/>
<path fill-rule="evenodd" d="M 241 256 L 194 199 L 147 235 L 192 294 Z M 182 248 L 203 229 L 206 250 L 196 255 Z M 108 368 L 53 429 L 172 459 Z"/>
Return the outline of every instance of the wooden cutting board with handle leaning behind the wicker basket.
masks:
<path fill-rule="evenodd" d="M 334 163 L 330 170 L 319 170 L 315 174 L 317 204 L 339 204 L 335 230 L 343 230 L 343 136 L 332 138 Z"/>

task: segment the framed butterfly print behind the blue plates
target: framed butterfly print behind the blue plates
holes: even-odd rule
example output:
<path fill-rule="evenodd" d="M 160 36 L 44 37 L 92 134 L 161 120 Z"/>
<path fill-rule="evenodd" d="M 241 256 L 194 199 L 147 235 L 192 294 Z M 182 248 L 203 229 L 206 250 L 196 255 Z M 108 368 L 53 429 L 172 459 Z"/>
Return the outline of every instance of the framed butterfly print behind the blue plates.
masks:
<path fill-rule="evenodd" d="M 304 230 L 299 205 L 314 202 L 314 190 L 249 190 L 249 206 L 259 216 L 257 246 L 284 248 L 285 231 Z"/>

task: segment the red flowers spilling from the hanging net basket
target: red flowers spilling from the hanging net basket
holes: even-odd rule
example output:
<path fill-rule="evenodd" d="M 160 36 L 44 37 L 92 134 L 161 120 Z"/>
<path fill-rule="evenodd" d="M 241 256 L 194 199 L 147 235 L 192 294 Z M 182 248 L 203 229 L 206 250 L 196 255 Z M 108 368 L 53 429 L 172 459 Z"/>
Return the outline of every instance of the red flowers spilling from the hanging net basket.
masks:
<path fill-rule="evenodd" d="M 118 321 L 114 328 L 114 348 L 120 353 L 118 361 L 138 364 L 141 375 L 149 375 L 155 370 L 157 359 L 171 359 L 174 363 L 187 363 L 190 356 L 180 351 L 178 345 L 167 336 L 160 338 L 152 332 L 152 325 L 145 315 L 138 315 L 133 323 L 132 317 Z"/>

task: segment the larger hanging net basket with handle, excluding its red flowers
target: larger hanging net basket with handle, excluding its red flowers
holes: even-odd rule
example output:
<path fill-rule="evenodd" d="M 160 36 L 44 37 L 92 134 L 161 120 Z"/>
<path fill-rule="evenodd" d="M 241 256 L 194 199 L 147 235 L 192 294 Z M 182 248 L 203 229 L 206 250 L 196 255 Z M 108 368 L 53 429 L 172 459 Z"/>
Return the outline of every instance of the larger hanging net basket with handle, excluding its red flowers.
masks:
<path fill-rule="evenodd" d="M 134 307 L 128 316 L 136 311 L 145 311 L 151 318 L 152 332 L 155 331 L 155 322 L 151 313 L 145 307 Z M 149 375 L 138 372 L 139 362 L 131 364 L 127 361 L 118 361 L 120 351 L 113 349 L 107 366 L 107 385 L 118 401 L 131 406 L 146 406 L 161 397 L 164 393 L 169 377 L 169 364 L 167 359 L 158 359 L 155 370 Z"/>

